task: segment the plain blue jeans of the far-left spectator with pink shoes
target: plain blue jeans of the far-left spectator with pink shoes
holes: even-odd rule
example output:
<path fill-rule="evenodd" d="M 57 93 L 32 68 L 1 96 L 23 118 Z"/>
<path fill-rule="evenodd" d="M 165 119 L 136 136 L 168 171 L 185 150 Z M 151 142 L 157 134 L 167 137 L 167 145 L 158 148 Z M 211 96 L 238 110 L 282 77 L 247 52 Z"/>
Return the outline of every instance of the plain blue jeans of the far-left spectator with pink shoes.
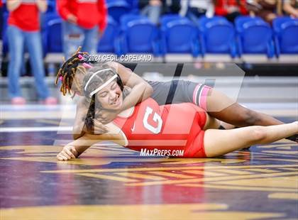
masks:
<path fill-rule="evenodd" d="M 30 55 L 30 64 L 35 77 L 35 87 L 40 99 L 49 96 L 48 87 L 45 84 L 45 67 L 43 66 L 43 50 L 39 31 L 22 31 L 16 26 L 8 26 L 9 38 L 9 97 L 21 97 L 21 89 L 18 78 L 23 67 L 23 50 L 25 45 Z"/>

